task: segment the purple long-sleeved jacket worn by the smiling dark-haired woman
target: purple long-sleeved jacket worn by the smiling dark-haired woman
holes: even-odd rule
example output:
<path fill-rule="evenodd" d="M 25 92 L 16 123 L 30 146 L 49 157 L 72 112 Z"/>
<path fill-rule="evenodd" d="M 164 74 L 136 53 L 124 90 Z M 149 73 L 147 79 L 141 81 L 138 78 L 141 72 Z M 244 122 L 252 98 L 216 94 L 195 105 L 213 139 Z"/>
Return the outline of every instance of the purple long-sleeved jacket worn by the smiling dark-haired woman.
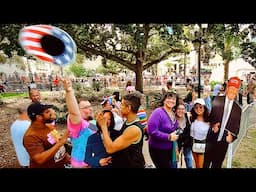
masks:
<path fill-rule="evenodd" d="M 169 134 L 178 127 L 178 121 L 171 121 L 163 107 L 155 109 L 148 119 L 149 145 L 156 149 L 171 149 Z"/>

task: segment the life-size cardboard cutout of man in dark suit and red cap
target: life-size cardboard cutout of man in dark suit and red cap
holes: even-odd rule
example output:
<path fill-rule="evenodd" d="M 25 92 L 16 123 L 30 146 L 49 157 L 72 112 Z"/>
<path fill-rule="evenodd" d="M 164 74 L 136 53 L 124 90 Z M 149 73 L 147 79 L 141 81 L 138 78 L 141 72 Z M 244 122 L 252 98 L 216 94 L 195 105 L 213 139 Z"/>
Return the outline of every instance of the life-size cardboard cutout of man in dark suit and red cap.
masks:
<path fill-rule="evenodd" d="M 228 80 L 225 96 L 217 96 L 213 100 L 204 168 L 221 168 L 228 144 L 237 139 L 242 108 L 235 98 L 240 86 L 241 80 L 238 77 L 231 77 Z"/>

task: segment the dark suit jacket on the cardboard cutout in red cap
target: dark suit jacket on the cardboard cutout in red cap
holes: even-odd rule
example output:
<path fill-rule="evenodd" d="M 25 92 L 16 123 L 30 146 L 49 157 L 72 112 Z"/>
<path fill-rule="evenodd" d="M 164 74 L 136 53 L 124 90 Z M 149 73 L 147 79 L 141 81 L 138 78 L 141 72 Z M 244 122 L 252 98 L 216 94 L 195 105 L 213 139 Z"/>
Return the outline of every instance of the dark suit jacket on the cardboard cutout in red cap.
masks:
<path fill-rule="evenodd" d="M 215 123 L 222 123 L 222 116 L 224 113 L 224 106 L 225 106 L 225 97 L 226 96 L 217 96 L 214 98 L 213 103 L 212 103 L 212 110 L 210 113 L 210 129 L 208 132 L 207 140 L 209 141 L 217 141 L 219 131 L 217 133 L 214 133 L 212 131 L 212 126 Z M 233 141 L 237 138 L 237 135 L 239 133 L 240 129 L 240 120 L 241 120 L 241 113 L 242 113 L 242 108 L 239 106 L 239 104 L 234 101 L 233 106 L 229 115 L 229 119 L 227 121 L 225 129 L 229 130 L 232 133 L 233 136 Z M 227 136 L 227 131 L 224 131 L 222 140 L 226 141 L 226 136 Z"/>

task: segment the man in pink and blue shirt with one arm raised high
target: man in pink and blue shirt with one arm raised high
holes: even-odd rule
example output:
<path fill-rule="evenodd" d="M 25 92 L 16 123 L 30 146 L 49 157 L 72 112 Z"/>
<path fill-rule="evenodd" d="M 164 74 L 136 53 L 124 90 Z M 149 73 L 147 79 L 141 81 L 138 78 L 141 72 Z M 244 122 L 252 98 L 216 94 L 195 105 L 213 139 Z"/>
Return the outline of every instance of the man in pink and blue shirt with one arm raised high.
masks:
<path fill-rule="evenodd" d="M 93 109 L 87 100 L 77 102 L 70 80 L 63 80 L 63 88 L 66 91 L 67 126 L 72 142 L 71 166 L 73 168 L 86 168 L 88 164 L 84 162 L 84 159 L 87 140 L 90 135 L 97 131 L 96 123 L 92 120 Z"/>

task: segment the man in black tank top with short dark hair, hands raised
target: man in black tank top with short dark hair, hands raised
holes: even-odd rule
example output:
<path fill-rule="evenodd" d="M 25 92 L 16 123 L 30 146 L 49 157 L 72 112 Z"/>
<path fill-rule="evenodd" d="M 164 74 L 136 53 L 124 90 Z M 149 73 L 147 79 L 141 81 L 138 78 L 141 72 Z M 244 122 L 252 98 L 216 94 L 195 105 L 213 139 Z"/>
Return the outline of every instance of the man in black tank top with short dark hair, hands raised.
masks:
<path fill-rule="evenodd" d="M 125 95 L 121 101 L 121 114 L 124 122 L 120 136 L 111 140 L 107 122 L 102 114 L 97 116 L 97 122 L 102 128 L 106 151 L 112 154 L 112 167 L 114 168 L 144 168 L 145 159 L 142 154 L 143 128 L 137 118 L 141 105 L 140 97 L 136 93 Z"/>

